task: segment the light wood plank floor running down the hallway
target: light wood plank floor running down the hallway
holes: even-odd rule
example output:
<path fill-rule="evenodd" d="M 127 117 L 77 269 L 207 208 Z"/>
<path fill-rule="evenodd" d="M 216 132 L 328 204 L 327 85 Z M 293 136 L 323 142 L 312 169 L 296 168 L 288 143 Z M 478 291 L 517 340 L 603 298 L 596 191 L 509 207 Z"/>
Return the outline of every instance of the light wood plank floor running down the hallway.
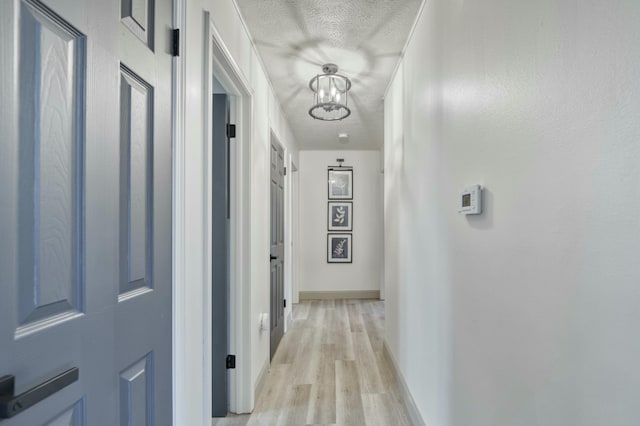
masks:
<path fill-rule="evenodd" d="M 253 414 L 214 426 L 411 425 L 383 355 L 384 302 L 294 305 Z"/>

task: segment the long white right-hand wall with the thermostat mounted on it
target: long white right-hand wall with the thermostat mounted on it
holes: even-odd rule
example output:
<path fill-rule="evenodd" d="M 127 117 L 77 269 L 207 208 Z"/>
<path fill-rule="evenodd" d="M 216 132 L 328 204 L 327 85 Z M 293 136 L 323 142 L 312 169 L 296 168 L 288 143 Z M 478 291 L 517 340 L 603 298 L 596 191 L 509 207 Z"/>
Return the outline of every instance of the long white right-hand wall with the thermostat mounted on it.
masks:
<path fill-rule="evenodd" d="M 430 425 L 637 425 L 640 3 L 432 0 L 385 100 L 387 339 Z M 482 184 L 485 212 L 456 213 Z"/>

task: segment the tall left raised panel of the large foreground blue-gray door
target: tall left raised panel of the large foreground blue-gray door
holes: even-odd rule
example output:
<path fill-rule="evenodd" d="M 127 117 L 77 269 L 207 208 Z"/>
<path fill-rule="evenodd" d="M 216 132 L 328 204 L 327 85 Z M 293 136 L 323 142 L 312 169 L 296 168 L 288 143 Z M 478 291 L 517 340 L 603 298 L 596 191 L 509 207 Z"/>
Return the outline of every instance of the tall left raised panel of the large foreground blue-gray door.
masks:
<path fill-rule="evenodd" d="M 78 314 L 84 38 L 42 7 L 20 4 L 17 336 Z M 36 84 L 34 84 L 36 83 Z M 30 100 L 26 103 L 25 100 Z"/>

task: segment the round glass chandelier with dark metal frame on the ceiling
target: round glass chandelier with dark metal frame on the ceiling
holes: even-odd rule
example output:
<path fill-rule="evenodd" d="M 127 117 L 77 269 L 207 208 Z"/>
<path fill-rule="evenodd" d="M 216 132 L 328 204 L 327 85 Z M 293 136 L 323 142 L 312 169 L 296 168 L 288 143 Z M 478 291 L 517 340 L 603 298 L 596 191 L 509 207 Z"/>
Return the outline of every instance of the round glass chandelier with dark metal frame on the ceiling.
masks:
<path fill-rule="evenodd" d="M 313 91 L 314 105 L 309 109 L 309 115 L 316 120 L 337 121 L 347 118 L 351 110 L 347 106 L 351 81 L 343 75 L 337 74 L 336 64 L 322 66 L 323 74 L 318 74 L 309 82 Z"/>

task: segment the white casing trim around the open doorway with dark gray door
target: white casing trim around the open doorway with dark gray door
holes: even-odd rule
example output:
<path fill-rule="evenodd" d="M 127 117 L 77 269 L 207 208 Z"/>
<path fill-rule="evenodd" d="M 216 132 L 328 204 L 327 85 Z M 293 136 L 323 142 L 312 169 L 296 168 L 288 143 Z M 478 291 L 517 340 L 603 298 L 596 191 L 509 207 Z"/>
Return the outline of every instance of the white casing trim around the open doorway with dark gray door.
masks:
<path fill-rule="evenodd" d="M 205 22 L 205 67 L 204 78 L 204 135 L 205 145 L 211 145 L 212 118 L 210 114 L 210 100 L 213 95 L 212 78 L 216 78 L 231 96 L 231 113 L 236 118 L 236 138 L 234 142 L 232 164 L 232 183 L 235 195 L 231 200 L 230 223 L 230 352 L 236 355 L 236 369 L 229 375 L 229 409 L 233 413 L 248 413 L 253 409 L 254 396 L 251 384 L 251 257 L 250 257 L 250 217 L 246 215 L 250 209 L 250 185 L 247 178 L 250 170 L 251 123 L 253 122 L 253 91 L 246 76 L 233 59 L 231 53 L 222 42 L 211 15 L 204 12 Z M 206 150 L 208 152 L 208 149 Z M 204 303 L 204 342 L 206 353 L 203 355 L 206 401 L 211 400 L 211 208 L 210 194 L 211 160 L 205 154 L 205 224 L 204 232 L 207 236 L 204 262 L 205 294 Z M 209 415 L 210 417 L 210 415 Z"/>

